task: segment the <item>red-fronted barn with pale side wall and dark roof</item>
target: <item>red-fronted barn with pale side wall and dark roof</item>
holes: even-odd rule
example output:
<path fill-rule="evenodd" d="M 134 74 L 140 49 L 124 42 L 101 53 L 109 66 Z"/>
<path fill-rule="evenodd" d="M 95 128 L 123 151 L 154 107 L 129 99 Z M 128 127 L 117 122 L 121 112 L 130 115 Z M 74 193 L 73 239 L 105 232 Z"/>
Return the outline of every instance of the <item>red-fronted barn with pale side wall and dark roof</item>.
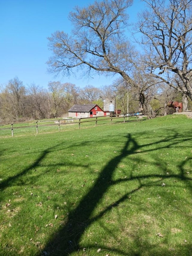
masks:
<path fill-rule="evenodd" d="M 104 111 L 97 104 L 74 105 L 68 110 L 69 117 L 104 116 Z"/>

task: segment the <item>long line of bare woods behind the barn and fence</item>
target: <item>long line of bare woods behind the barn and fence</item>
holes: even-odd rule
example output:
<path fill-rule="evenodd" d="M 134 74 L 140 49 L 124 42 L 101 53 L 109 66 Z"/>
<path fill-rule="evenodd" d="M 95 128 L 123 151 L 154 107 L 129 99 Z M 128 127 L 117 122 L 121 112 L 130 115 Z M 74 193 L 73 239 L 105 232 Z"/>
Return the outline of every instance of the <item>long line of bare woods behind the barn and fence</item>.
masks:
<path fill-rule="evenodd" d="M 175 89 L 170 90 L 165 83 L 159 85 L 154 80 L 147 80 L 146 84 L 144 81 L 142 84 L 156 115 L 171 113 L 167 107 L 171 99 L 182 100 L 182 94 Z M 116 108 L 121 109 L 122 113 L 135 113 L 140 110 L 140 97 L 140 90 L 128 87 L 123 79 L 117 79 L 112 85 L 100 88 L 91 85 L 80 88 L 75 84 L 59 81 L 51 81 L 47 88 L 43 88 L 34 83 L 24 86 L 18 77 L 14 77 L 0 91 L 0 122 L 62 118 L 67 116 L 68 110 L 74 104 L 94 103 L 103 108 L 107 98 L 115 98 Z M 143 112 L 148 115 L 145 109 Z"/>

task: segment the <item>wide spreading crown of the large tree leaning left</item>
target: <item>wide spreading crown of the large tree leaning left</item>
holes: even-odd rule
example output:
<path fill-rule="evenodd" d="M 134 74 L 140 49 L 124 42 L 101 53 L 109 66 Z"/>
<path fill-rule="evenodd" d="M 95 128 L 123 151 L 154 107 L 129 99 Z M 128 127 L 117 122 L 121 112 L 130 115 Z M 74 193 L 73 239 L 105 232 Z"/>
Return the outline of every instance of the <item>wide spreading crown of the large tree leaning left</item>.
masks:
<path fill-rule="evenodd" d="M 131 5 L 132 0 L 105 0 L 95 1 L 87 8 L 76 7 L 69 16 L 74 26 L 71 37 L 57 31 L 48 38 L 53 52 L 49 72 L 70 75 L 74 69 L 82 68 L 85 75 L 119 74 L 134 86 L 131 70 L 137 52 L 124 30 L 128 26 L 127 8 Z"/>

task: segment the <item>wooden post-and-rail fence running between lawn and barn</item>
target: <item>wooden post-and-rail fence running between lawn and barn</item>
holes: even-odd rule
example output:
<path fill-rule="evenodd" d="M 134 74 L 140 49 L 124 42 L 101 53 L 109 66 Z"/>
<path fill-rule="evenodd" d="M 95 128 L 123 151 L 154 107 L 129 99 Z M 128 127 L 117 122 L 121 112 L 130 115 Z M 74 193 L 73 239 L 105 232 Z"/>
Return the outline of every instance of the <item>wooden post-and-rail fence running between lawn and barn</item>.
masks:
<path fill-rule="evenodd" d="M 4 136 L 9 136 L 9 134 L 11 134 L 11 136 L 13 137 L 15 129 L 34 128 L 34 130 L 32 130 L 32 134 L 35 133 L 35 130 L 36 130 L 36 134 L 38 134 L 39 130 L 41 130 L 41 127 L 58 126 L 58 131 L 61 131 L 61 127 L 69 127 L 70 125 L 75 125 L 76 124 L 76 125 L 78 125 L 78 128 L 80 129 L 83 125 L 85 125 L 85 126 L 90 125 L 91 122 L 95 126 L 97 126 L 98 123 L 99 124 L 112 124 L 112 123 L 115 123 L 115 122 L 125 123 L 125 122 L 128 122 L 128 121 L 136 121 L 136 120 L 138 120 L 138 116 L 131 117 L 131 118 L 130 117 L 128 118 L 128 116 L 119 116 L 119 117 L 116 117 L 116 116 L 115 117 L 114 116 L 97 116 L 97 117 L 89 117 L 89 118 L 81 117 L 81 118 L 78 118 L 78 119 L 73 119 L 73 122 L 67 122 L 68 120 L 71 120 L 71 118 L 54 119 L 54 120 L 37 120 L 36 124 L 34 124 L 34 125 L 25 125 L 25 126 L 22 126 L 22 125 L 13 126 L 13 123 L 12 124 L 7 124 L 7 125 L 10 125 L 10 127 L 0 128 L 0 136 L 2 136 L 2 134 L 1 134 L 2 130 L 11 130 L 11 133 L 8 132 L 8 133 L 5 133 L 3 135 Z M 142 120 L 142 119 L 140 119 L 140 120 Z M 46 123 L 46 122 L 49 122 L 49 123 Z M 50 123 L 50 122 L 54 122 L 54 123 Z M 1 125 L 1 127 L 2 126 L 7 126 L 7 125 L 4 125 L 2 123 L 0 125 Z M 18 125 L 18 123 L 17 123 L 17 125 Z M 20 134 L 22 134 L 22 131 L 20 132 Z"/>

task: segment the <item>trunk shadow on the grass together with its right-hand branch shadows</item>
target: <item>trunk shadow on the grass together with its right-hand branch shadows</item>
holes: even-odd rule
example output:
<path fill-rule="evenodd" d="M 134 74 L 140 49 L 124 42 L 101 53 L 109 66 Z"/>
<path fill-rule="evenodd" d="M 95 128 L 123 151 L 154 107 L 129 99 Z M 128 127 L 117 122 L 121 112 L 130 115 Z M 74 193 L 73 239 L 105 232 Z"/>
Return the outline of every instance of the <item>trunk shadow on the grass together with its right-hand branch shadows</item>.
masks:
<path fill-rule="evenodd" d="M 169 146 L 173 146 L 175 143 L 174 140 L 178 136 L 178 140 L 184 141 L 185 139 L 179 138 L 179 135 L 175 133 L 172 137 L 170 137 L 168 140 L 170 141 Z M 188 137 L 186 140 L 189 140 L 190 138 Z M 158 140 L 155 143 L 152 143 L 154 145 L 158 145 L 161 143 L 163 140 Z M 166 140 L 167 141 L 167 140 Z M 149 144 L 150 145 L 150 144 Z M 144 145 L 147 146 L 147 145 Z M 88 193 L 82 198 L 82 200 L 79 202 L 79 205 L 71 212 L 69 212 L 68 215 L 68 220 L 64 224 L 63 227 L 61 227 L 60 230 L 58 230 L 58 233 L 55 234 L 48 242 L 47 245 L 44 248 L 45 253 L 49 253 L 49 255 L 70 255 L 76 253 L 76 255 L 79 255 L 80 249 L 80 241 L 83 233 L 85 230 L 95 221 L 99 220 L 106 212 L 110 211 L 112 208 L 118 206 L 120 203 L 124 202 L 129 198 L 129 196 L 137 191 L 139 191 L 143 186 L 142 183 L 137 186 L 137 188 L 130 190 L 128 193 L 125 193 L 122 197 L 120 197 L 116 202 L 113 202 L 112 204 L 108 205 L 105 207 L 104 210 L 100 211 L 98 215 L 92 217 L 92 213 L 97 207 L 98 203 L 102 200 L 104 197 L 105 193 L 108 191 L 110 186 L 116 185 L 121 182 L 126 182 L 126 181 L 131 181 L 134 179 L 137 179 L 140 181 L 140 179 L 143 178 L 151 178 L 151 177 L 157 177 L 157 178 L 163 178 L 167 176 L 165 174 L 159 175 L 159 174 L 151 174 L 151 175 L 141 175 L 141 176 L 131 176 L 128 179 L 119 179 L 119 180 L 113 180 L 113 173 L 116 169 L 116 166 L 122 161 L 123 158 L 128 157 L 131 154 L 136 154 L 138 153 L 138 150 L 141 149 L 142 147 L 138 145 L 136 140 L 128 134 L 125 140 L 125 145 L 123 149 L 120 151 L 119 155 L 116 157 L 112 158 L 103 168 L 101 171 L 98 179 L 95 181 L 94 185 L 92 188 L 88 191 Z M 167 146 L 166 146 L 167 148 Z M 147 152 L 148 150 L 146 150 Z M 152 151 L 152 149 L 149 149 L 149 151 Z M 148 151 L 148 152 L 149 152 Z M 189 159 L 190 160 L 190 159 Z M 178 179 L 181 179 L 183 181 L 189 181 L 191 179 L 188 179 L 184 175 L 184 170 L 183 170 L 183 165 L 185 163 L 182 163 L 180 166 L 180 174 L 179 175 L 170 175 L 170 177 L 176 177 Z M 149 186 L 155 185 L 154 182 L 151 182 L 148 184 Z M 190 186 L 190 185 L 189 185 Z M 139 235 L 138 235 L 139 236 Z M 137 242 L 139 239 L 136 239 Z M 142 240 L 142 239 L 141 239 Z M 143 242 L 143 241 L 142 241 Z M 142 247 L 142 242 L 139 242 L 138 247 Z M 144 242 L 143 242 L 144 243 Z M 148 243 L 145 241 L 145 244 Z M 145 246 L 146 248 L 150 248 L 151 245 Z M 90 247 L 91 248 L 91 245 Z M 103 249 L 105 249 L 103 247 Z M 144 251 L 142 251 L 141 248 L 141 254 L 138 252 L 129 252 L 129 254 L 125 253 L 125 251 L 122 251 L 121 249 L 115 249 L 115 248 L 108 248 L 106 247 L 106 250 L 113 251 L 115 253 L 114 255 L 143 255 Z M 143 248 L 144 250 L 144 248 Z M 190 250 L 190 249 L 189 249 Z M 178 251 L 180 249 L 178 248 Z M 164 252 L 161 250 L 161 254 L 156 254 L 156 255 L 172 255 L 167 252 Z M 82 255 L 87 255 L 82 254 Z M 149 254 L 150 255 L 150 254 Z M 177 254 L 174 254 L 177 255 Z M 179 254 L 178 254 L 179 255 Z"/>

